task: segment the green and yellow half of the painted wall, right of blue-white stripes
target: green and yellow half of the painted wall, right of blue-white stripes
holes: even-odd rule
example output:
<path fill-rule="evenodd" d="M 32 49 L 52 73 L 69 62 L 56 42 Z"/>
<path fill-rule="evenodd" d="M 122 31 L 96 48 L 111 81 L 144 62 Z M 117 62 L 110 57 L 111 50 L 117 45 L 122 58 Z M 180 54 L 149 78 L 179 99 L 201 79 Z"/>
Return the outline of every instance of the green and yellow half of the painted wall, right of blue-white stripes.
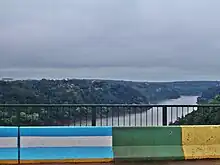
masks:
<path fill-rule="evenodd" d="M 220 126 L 113 128 L 115 160 L 220 158 Z"/>

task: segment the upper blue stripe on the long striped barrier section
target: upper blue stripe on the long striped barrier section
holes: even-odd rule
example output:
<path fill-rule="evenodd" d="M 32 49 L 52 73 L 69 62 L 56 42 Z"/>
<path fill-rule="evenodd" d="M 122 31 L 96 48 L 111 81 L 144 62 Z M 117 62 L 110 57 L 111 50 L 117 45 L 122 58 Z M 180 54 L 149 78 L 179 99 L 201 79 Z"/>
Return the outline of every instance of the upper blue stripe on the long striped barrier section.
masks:
<path fill-rule="evenodd" d="M 112 136 L 112 127 L 21 127 L 21 136 Z"/>

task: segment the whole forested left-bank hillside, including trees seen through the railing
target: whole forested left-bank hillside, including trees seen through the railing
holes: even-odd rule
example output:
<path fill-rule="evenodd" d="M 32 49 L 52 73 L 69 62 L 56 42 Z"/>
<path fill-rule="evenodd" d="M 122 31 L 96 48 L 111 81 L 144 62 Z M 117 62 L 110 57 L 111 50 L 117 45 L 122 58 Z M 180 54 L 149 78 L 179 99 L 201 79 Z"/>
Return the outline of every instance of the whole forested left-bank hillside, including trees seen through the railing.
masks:
<path fill-rule="evenodd" d="M 105 80 L 0 81 L 1 104 L 148 104 L 178 98 L 177 91 L 163 84 Z M 0 108 L 0 124 L 71 124 L 91 118 L 91 108 L 11 107 Z M 102 117 L 114 109 L 102 108 Z M 124 112 L 122 112 L 124 113 Z M 132 113 L 132 111 L 131 111 Z"/>

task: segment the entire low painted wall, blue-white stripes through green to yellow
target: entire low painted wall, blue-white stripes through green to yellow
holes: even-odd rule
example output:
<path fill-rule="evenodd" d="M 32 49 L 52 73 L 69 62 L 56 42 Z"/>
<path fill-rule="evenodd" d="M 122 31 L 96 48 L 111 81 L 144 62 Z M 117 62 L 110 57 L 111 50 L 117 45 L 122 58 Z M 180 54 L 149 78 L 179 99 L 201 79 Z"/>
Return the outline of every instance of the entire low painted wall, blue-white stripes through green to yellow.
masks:
<path fill-rule="evenodd" d="M 0 127 L 0 164 L 19 151 L 21 163 L 220 158 L 220 126 Z"/>

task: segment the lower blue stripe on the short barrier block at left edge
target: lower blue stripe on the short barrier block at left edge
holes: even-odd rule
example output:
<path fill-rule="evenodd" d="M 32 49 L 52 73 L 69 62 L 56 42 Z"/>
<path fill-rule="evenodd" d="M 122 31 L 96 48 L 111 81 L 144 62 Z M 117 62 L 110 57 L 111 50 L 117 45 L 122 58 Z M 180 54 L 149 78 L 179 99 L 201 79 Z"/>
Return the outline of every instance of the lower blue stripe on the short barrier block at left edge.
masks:
<path fill-rule="evenodd" d="M 0 148 L 0 160 L 18 160 L 18 149 Z"/>

